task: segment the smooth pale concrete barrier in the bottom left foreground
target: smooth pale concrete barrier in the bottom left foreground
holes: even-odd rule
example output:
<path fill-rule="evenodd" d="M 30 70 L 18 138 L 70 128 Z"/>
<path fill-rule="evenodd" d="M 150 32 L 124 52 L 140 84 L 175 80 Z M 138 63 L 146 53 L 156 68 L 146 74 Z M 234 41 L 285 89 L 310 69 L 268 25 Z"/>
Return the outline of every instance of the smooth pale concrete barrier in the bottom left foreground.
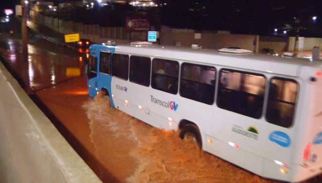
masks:
<path fill-rule="evenodd" d="M 100 183 L 0 62 L 0 183 Z"/>

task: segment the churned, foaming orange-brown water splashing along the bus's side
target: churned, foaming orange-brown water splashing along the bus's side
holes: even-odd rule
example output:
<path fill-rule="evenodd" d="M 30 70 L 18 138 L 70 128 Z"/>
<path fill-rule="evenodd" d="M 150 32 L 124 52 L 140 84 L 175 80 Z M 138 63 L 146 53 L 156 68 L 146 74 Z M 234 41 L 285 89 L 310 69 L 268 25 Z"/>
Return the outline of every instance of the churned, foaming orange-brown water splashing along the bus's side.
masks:
<path fill-rule="evenodd" d="M 178 132 L 147 125 L 99 94 L 83 105 L 96 156 L 128 183 L 271 183 L 206 152 Z M 102 147 L 102 148 L 101 148 Z M 108 150 L 106 147 L 109 147 Z M 108 155 L 107 155 L 108 154 Z M 134 161 L 133 161 L 134 160 Z"/>

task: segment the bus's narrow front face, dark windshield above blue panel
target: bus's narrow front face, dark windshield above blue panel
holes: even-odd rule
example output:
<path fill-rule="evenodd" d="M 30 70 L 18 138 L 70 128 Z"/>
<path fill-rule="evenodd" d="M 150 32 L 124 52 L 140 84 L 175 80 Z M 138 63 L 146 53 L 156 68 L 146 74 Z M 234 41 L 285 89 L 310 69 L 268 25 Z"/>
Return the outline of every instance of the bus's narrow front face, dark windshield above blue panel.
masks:
<path fill-rule="evenodd" d="M 97 89 L 97 57 L 90 56 L 87 67 L 87 87 L 89 95 L 96 96 Z"/>

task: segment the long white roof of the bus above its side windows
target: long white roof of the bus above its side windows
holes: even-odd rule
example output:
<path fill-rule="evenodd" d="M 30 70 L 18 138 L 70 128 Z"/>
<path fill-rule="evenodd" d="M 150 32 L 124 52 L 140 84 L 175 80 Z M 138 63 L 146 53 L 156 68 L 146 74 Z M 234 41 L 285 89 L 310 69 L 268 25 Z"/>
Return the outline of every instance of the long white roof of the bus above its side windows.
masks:
<path fill-rule="evenodd" d="M 190 61 L 200 64 L 221 65 L 295 77 L 300 75 L 302 66 L 322 68 L 322 61 L 310 61 L 310 59 L 306 58 L 281 57 L 255 53 L 221 53 L 215 49 L 191 47 L 127 44 L 115 46 L 115 52 Z"/>

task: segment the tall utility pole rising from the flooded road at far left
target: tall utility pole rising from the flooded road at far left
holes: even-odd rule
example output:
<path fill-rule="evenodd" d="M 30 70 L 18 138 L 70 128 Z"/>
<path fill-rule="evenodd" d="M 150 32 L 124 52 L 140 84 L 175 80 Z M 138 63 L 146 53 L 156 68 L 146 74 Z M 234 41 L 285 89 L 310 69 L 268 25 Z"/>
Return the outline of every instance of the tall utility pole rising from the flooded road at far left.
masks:
<path fill-rule="evenodd" d="M 24 60 L 27 60 L 27 58 L 28 58 L 28 29 L 27 29 L 28 3 L 29 3 L 28 0 L 21 0 L 21 7 L 22 7 L 22 21 L 21 21 L 22 55 L 23 55 Z"/>

